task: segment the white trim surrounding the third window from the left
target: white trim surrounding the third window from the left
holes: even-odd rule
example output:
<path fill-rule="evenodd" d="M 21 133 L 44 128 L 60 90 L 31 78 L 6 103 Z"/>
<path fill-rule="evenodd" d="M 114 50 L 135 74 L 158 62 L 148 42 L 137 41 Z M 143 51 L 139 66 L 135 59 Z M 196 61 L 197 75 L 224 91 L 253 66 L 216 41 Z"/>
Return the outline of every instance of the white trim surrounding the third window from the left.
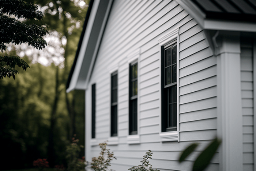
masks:
<path fill-rule="evenodd" d="M 137 98 L 137 135 L 129 135 L 129 122 L 127 123 L 128 124 L 128 135 L 127 135 L 127 144 L 139 144 L 140 143 L 140 106 L 139 106 L 139 98 L 140 98 L 140 84 L 139 84 L 139 81 L 140 81 L 140 48 L 136 49 L 135 51 L 131 52 L 128 56 L 127 56 L 127 60 L 128 60 L 128 75 L 129 75 L 129 72 L 130 72 L 130 63 L 132 63 L 133 61 L 137 60 L 137 63 L 138 63 L 138 98 Z M 129 88 L 129 81 L 128 81 L 128 88 Z M 129 90 L 128 90 L 129 91 Z M 129 106 L 129 100 L 130 100 L 130 97 L 128 96 L 128 106 Z M 129 121 L 129 107 L 128 107 L 128 121 Z"/>

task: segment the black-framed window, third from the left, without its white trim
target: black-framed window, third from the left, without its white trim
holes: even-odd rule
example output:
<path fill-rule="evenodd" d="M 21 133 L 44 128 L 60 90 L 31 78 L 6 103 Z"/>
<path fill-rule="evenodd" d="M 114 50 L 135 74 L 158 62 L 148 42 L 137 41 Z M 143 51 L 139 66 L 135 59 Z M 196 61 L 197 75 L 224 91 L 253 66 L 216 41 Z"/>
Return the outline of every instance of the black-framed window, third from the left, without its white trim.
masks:
<path fill-rule="evenodd" d="M 129 73 L 129 135 L 138 132 L 137 106 L 138 106 L 138 61 L 130 64 Z"/>

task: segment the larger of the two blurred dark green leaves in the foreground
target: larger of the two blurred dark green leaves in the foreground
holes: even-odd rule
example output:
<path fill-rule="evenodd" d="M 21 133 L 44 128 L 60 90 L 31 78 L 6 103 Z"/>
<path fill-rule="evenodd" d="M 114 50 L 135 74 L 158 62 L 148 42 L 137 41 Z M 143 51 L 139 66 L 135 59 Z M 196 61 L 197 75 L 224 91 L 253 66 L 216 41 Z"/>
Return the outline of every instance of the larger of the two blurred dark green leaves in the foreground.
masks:
<path fill-rule="evenodd" d="M 220 144 L 221 140 L 215 138 L 209 144 L 209 146 L 206 147 L 204 151 L 197 157 L 193 166 L 193 171 L 203 171 L 210 164 L 210 161 L 213 158 Z"/>

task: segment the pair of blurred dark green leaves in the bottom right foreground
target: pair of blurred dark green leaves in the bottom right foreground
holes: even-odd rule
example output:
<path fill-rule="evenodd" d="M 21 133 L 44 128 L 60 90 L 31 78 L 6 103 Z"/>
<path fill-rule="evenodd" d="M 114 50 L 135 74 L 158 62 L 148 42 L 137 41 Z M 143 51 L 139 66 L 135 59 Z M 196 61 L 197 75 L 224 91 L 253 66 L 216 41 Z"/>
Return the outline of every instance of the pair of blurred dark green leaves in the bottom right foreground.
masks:
<path fill-rule="evenodd" d="M 199 154 L 199 156 L 197 156 L 193 164 L 192 171 L 203 171 L 210 164 L 210 161 L 213 158 L 220 144 L 220 139 L 215 138 L 214 140 L 212 140 L 212 142 L 209 143 L 209 145 Z M 198 145 L 198 143 L 192 143 L 184 151 L 182 151 L 179 162 L 183 162 L 196 149 Z"/>

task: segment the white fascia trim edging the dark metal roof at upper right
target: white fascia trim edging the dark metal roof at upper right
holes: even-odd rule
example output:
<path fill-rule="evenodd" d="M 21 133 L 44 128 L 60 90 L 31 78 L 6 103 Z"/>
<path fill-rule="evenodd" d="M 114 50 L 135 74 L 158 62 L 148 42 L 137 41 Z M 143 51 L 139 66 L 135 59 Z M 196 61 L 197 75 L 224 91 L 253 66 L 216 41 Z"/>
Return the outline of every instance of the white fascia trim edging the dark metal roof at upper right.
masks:
<path fill-rule="evenodd" d="M 176 0 L 206 30 L 256 32 L 256 22 L 207 18 L 206 12 L 191 0 Z M 216 13 L 217 14 L 217 13 Z M 221 13 L 220 13 L 221 14 Z M 249 14 L 245 14 L 252 16 Z M 256 15 L 253 15 L 254 19 Z M 234 18 L 235 19 L 235 18 Z"/>

